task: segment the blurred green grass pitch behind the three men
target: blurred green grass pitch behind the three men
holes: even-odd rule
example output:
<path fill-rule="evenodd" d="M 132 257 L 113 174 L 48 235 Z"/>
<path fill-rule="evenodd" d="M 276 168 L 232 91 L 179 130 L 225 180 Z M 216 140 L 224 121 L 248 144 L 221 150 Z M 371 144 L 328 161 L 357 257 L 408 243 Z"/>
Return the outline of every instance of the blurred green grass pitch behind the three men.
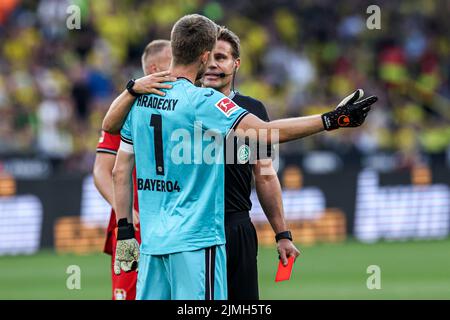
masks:
<path fill-rule="evenodd" d="M 259 248 L 262 299 L 450 299 L 450 240 L 347 242 L 304 247 L 290 281 L 275 283 L 275 248 Z M 110 257 L 43 251 L 0 257 L 0 299 L 110 299 Z M 78 265 L 81 289 L 66 287 Z M 367 267 L 381 269 L 381 289 L 366 286 Z"/>

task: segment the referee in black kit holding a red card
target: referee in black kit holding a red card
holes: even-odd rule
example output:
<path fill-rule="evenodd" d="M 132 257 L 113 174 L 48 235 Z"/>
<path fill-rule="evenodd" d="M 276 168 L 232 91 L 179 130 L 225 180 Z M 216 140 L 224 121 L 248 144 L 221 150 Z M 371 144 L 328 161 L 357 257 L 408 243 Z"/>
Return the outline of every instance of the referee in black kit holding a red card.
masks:
<path fill-rule="evenodd" d="M 203 86 L 222 92 L 240 107 L 264 121 L 269 121 L 266 108 L 260 101 L 234 91 L 234 78 L 240 66 L 239 38 L 225 27 L 220 27 L 216 46 L 211 55 L 211 62 L 202 78 Z M 233 145 L 239 146 L 239 143 Z M 245 148 L 245 145 L 241 145 Z M 255 176 L 258 199 L 276 234 L 277 249 L 283 264 L 287 264 L 289 256 L 297 258 L 300 254 L 292 243 L 292 235 L 286 227 L 281 186 L 272 166 L 270 150 L 266 152 L 267 158 L 257 158 L 255 165 L 249 162 L 248 152 L 251 152 L 249 150 L 250 148 L 242 150 L 241 147 L 236 147 L 233 163 L 225 165 L 225 234 L 229 300 L 259 299 L 258 239 L 249 215 L 252 207 L 250 201 L 252 173 Z M 228 157 L 229 155 L 227 159 Z M 264 170 L 264 174 L 261 170 Z"/>

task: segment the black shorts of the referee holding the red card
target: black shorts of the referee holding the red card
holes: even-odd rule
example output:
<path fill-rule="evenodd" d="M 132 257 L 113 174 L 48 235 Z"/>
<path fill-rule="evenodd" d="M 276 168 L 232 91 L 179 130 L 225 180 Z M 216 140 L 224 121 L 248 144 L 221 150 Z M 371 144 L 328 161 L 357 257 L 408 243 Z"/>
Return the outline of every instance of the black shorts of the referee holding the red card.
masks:
<path fill-rule="evenodd" d="M 258 237 L 248 212 L 225 214 L 228 300 L 258 300 Z"/>

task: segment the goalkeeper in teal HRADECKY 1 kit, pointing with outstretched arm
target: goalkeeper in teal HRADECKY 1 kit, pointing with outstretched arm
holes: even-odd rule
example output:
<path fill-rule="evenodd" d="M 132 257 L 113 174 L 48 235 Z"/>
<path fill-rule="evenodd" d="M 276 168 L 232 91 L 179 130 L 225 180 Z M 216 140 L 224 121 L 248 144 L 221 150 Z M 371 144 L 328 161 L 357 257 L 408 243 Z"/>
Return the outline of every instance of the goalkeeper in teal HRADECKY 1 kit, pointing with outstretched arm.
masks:
<path fill-rule="evenodd" d="M 244 132 L 237 133 L 241 138 L 286 142 L 360 126 L 377 100 L 359 100 L 363 92 L 357 90 L 323 115 L 262 121 L 223 94 L 194 86 L 208 65 L 216 38 L 217 25 L 208 18 L 181 18 L 171 33 L 169 71 L 178 79 L 171 82 L 173 88 L 165 90 L 164 97 L 139 95 L 130 81 L 119 96 L 125 100 L 134 96 L 135 101 L 121 131 L 113 169 L 116 265 L 129 271 L 139 260 L 137 299 L 227 299 L 222 143 L 232 129 Z M 105 123 L 103 129 L 108 131 Z M 261 136 L 261 130 L 267 134 Z M 140 256 L 130 223 L 135 163 Z"/>

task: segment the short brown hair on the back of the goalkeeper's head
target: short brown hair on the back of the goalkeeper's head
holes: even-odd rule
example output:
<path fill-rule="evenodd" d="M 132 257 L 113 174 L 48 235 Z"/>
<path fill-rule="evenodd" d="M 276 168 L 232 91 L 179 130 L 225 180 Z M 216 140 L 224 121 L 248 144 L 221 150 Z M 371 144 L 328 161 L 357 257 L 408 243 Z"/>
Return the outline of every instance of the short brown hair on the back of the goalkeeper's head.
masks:
<path fill-rule="evenodd" d="M 212 51 L 217 40 L 217 25 L 205 16 L 190 14 L 172 28 L 170 42 L 174 64 L 189 65 L 205 51 Z"/>

